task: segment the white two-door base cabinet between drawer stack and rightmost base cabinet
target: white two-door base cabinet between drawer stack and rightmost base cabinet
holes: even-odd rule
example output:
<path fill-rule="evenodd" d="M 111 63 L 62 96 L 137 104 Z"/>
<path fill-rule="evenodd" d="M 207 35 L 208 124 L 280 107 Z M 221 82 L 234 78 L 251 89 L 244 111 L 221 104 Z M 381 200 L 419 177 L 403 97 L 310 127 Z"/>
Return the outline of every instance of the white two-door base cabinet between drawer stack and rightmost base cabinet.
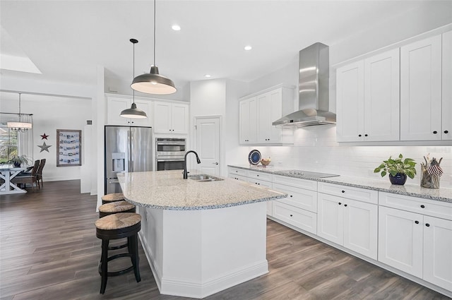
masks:
<path fill-rule="evenodd" d="M 317 235 L 376 260 L 378 206 L 374 203 L 347 198 L 349 192 L 352 197 L 355 197 L 361 194 L 366 195 L 367 191 L 371 190 L 357 193 L 361 189 L 319 183 L 319 191 L 328 190 L 331 186 L 337 186 L 344 197 L 319 193 Z M 373 192 L 369 193 L 369 198 L 363 198 L 363 200 L 372 201 L 377 194 L 376 191 Z"/>

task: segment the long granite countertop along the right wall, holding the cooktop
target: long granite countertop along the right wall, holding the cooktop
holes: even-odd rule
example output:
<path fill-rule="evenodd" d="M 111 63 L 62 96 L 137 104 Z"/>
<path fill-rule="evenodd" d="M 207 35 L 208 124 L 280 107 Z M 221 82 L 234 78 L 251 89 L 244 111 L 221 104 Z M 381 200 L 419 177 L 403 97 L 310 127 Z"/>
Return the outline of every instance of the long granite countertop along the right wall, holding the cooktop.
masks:
<path fill-rule="evenodd" d="M 271 174 L 277 174 L 282 176 L 290 176 L 295 178 L 301 178 L 299 176 L 291 176 L 289 174 L 278 174 L 278 172 L 283 171 L 281 168 L 263 168 L 263 167 L 249 167 L 249 166 L 239 166 L 239 165 L 228 165 L 228 167 L 234 167 L 239 169 L 246 169 L 256 172 L 265 172 Z M 285 168 L 287 170 L 287 168 Z M 307 176 L 302 177 L 303 179 L 327 182 L 329 184 L 342 184 L 343 186 L 352 186 L 356 188 L 367 188 L 375 191 L 383 191 L 387 193 L 396 193 L 399 195 L 413 196 L 431 200 L 438 200 L 443 202 L 452 203 L 452 189 L 451 188 L 422 188 L 418 184 L 405 184 L 403 186 L 398 186 L 391 184 L 389 179 L 378 180 L 378 179 L 367 179 L 362 177 L 352 177 L 352 176 L 336 176 L 328 177 L 322 179 L 309 178 Z"/>

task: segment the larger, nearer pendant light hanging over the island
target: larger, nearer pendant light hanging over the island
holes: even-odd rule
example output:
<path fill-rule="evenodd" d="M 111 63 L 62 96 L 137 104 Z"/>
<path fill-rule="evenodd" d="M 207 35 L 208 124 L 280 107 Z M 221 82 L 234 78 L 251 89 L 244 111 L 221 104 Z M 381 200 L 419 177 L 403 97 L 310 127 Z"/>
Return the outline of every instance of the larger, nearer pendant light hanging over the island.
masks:
<path fill-rule="evenodd" d="M 155 65 L 155 0 L 154 0 L 154 64 L 150 66 L 150 72 L 133 78 L 131 88 L 147 94 L 167 95 L 176 92 L 171 79 L 158 73 Z"/>

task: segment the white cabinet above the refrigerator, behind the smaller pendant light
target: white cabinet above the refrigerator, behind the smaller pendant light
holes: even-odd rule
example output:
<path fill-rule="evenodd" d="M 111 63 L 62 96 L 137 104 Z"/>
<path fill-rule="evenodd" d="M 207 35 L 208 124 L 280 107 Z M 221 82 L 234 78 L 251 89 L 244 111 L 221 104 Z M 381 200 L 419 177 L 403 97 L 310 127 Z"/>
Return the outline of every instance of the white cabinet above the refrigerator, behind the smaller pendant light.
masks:
<path fill-rule="evenodd" d="M 131 107 L 132 97 L 107 97 L 107 125 L 152 126 L 152 102 L 135 99 L 138 109 L 148 116 L 145 119 L 128 119 L 119 116 L 124 109 Z"/>

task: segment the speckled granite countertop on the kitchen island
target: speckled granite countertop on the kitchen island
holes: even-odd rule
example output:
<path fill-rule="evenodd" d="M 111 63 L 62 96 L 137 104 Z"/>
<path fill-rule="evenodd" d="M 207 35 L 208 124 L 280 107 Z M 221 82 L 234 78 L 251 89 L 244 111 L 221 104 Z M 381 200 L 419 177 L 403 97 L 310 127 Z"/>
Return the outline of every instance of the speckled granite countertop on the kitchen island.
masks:
<path fill-rule="evenodd" d="M 162 210 L 227 208 L 287 196 L 234 179 L 209 182 L 183 179 L 181 170 L 124 173 L 118 180 L 129 203 Z"/>

